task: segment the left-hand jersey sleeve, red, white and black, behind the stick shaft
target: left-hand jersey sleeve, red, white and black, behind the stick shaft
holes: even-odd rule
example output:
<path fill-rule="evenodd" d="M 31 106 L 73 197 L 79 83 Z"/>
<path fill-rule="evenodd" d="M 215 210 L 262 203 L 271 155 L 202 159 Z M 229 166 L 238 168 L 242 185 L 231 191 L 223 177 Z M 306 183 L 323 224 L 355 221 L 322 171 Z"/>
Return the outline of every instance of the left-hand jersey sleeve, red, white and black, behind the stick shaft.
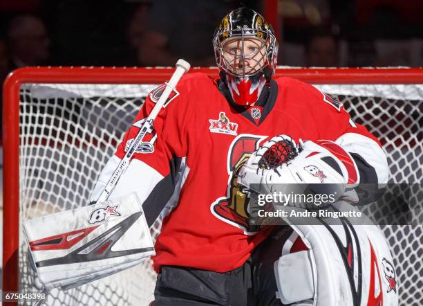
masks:
<path fill-rule="evenodd" d="M 160 96 L 160 88 L 158 87 L 147 96 L 131 127 L 124 134 L 123 141 L 106 163 L 93 190 L 91 201 L 96 201 L 100 197 L 104 186 L 140 132 L 140 128 Z M 163 88 L 164 85 L 161 89 Z M 185 139 L 186 120 L 182 120 L 180 116 L 184 111 L 185 101 L 179 96 L 178 91 L 173 91 L 170 97 L 154 120 L 153 129 L 138 145 L 128 168 L 109 196 L 109 199 L 113 199 L 136 192 L 142 202 L 149 226 L 165 208 L 170 211 L 169 206 L 176 204 L 173 195 L 178 193 L 176 186 L 181 178 L 180 174 L 185 170 L 188 145 Z M 179 189 L 181 187 L 179 186 Z"/>

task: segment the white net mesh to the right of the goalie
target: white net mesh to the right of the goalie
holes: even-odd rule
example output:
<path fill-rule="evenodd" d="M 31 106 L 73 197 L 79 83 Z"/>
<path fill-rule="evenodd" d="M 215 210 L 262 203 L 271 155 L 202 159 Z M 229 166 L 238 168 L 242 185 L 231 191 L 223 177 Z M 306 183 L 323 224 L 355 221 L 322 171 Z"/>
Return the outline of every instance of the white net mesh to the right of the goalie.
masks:
<path fill-rule="evenodd" d="M 422 85 L 323 85 L 344 103 L 355 123 L 381 141 L 388 156 L 390 183 L 422 183 Z M 380 226 L 391 246 L 400 305 L 423 305 L 423 190 L 417 188 L 408 208 L 412 225 Z M 371 207 L 383 214 L 384 207 Z"/>

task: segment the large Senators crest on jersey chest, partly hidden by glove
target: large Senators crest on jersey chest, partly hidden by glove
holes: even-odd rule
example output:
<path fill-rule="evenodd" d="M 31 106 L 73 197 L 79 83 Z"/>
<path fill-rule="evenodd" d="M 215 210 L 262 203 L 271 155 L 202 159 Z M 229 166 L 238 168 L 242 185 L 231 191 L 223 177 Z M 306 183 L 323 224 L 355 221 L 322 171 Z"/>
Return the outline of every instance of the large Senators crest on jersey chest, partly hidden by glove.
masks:
<path fill-rule="evenodd" d="M 241 134 L 234 138 L 227 154 L 227 173 L 229 174 L 227 194 L 225 197 L 216 199 L 210 206 L 215 217 L 241 228 L 246 235 L 252 235 L 258 229 L 252 228 L 248 222 L 250 217 L 247 211 L 249 198 L 243 190 L 244 187 L 239 185 L 236 179 L 241 166 L 252 152 L 258 149 L 259 144 L 265 138 L 266 136 L 250 134 Z"/>

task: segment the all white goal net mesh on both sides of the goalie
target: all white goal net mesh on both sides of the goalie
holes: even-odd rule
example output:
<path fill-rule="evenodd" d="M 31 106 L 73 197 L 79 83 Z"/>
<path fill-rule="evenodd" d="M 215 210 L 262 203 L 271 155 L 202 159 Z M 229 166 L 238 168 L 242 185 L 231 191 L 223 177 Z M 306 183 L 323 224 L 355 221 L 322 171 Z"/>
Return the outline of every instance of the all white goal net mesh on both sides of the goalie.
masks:
<path fill-rule="evenodd" d="M 21 220 L 87 203 L 100 170 L 154 85 L 25 84 L 21 87 Z M 421 85 L 320 85 L 344 103 L 384 145 L 395 182 L 422 178 Z M 422 195 L 420 195 L 422 197 Z M 417 215 L 423 222 L 423 216 Z M 397 267 L 400 305 L 423 305 L 422 226 L 383 226 Z M 160 231 L 155 224 L 153 235 Z M 33 272 L 20 237 L 21 291 Z M 69 291 L 53 290 L 48 305 L 148 305 L 155 273 L 146 261 Z"/>

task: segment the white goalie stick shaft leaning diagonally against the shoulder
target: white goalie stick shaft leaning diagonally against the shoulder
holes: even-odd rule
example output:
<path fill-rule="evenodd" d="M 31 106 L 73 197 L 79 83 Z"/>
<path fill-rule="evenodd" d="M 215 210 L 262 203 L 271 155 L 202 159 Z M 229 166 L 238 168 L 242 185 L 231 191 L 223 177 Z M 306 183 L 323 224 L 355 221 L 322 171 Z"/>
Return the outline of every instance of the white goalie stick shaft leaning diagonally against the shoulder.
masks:
<path fill-rule="evenodd" d="M 160 109 L 163 107 L 164 103 L 167 101 L 167 98 L 169 98 L 171 91 L 176 87 L 176 84 L 178 84 L 180 78 L 182 78 L 182 75 L 184 75 L 184 73 L 187 73 L 187 71 L 189 71 L 190 67 L 191 65 L 185 60 L 180 59 L 178 60 L 178 62 L 176 62 L 176 71 L 173 73 L 173 75 L 171 76 L 171 79 L 167 83 L 166 88 L 164 89 L 162 93 L 162 96 L 160 96 L 160 98 L 158 99 L 158 102 L 151 110 L 151 113 L 149 114 L 147 119 L 144 121 L 144 124 L 142 125 L 140 132 L 138 132 L 138 135 L 135 137 L 135 139 L 131 143 L 131 146 L 126 152 L 124 158 L 120 161 L 118 167 L 116 167 L 111 178 L 106 183 L 106 186 L 104 186 L 104 189 L 100 193 L 100 197 L 98 197 L 96 201 L 97 203 L 106 201 L 106 199 L 109 198 L 109 195 L 115 188 L 116 183 L 118 183 L 120 176 L 125 172 L 126 168 L 128 168 L 129 162 L 131 161 L 131 157 L 137 150 L 138 145 L 140 145 L 145 134 L 153 128 L 153 121 L 154 119 L 156 119 Z"/>

